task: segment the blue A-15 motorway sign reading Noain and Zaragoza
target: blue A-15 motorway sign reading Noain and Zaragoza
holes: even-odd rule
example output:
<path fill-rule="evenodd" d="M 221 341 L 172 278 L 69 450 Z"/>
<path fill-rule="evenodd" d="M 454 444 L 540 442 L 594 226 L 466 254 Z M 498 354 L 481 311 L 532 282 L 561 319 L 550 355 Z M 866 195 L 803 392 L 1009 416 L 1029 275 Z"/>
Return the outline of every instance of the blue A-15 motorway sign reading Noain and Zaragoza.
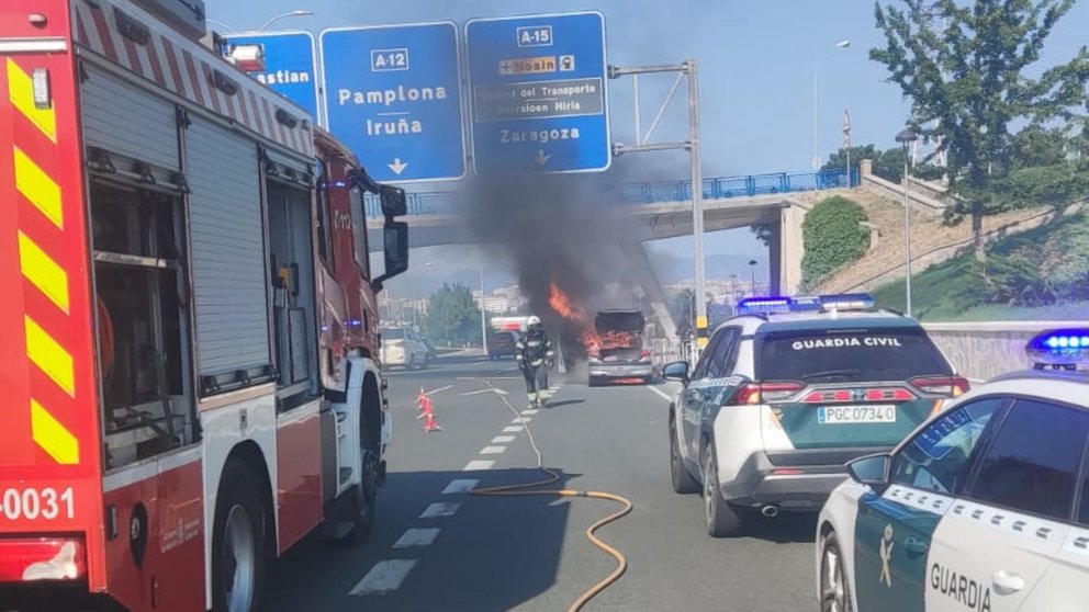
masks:
<path fill-rule="evenodd" d="M 472 20 L 465 45 L 478 173 L 608 169 L 602 13 Z"/>

